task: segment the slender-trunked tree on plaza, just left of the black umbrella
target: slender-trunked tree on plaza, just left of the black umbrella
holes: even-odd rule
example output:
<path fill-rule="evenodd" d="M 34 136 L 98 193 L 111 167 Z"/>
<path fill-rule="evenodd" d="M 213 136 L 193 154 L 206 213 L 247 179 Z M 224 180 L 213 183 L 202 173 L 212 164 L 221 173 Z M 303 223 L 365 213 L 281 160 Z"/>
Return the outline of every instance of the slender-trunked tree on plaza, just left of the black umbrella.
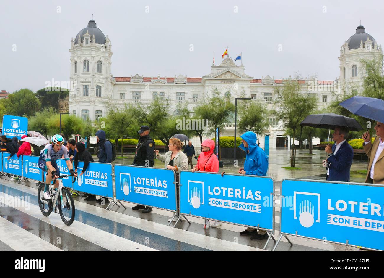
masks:
<path fill-rule="evenodd" d="M 297 76 L 297 79 L 301 79 Z M 282 120 L 286 129 L 292 130 L 293 145 L 300 122 L 316 109 L 316 97 L 305 92 L 300 87 L 298 80 L 286 79 L 282 87 L 275 88 L 275 106 L 278 107 L 274 114 Z M 293 148 L 294 149 L 294 148 Z M 291 167 L 295 167 L 294 152 L 291 151 Z"/>

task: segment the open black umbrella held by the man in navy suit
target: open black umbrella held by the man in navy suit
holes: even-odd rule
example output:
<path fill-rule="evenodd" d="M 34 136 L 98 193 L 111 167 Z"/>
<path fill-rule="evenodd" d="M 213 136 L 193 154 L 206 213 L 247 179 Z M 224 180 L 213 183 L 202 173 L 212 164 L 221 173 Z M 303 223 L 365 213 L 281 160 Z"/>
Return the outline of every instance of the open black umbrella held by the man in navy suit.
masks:
<path fill-rule="evenodd" d="M 336 126 L 348 127 L 351 131 L 361 131 L 362 127 L 356 121 L 356 119 L 341 116 L 334 113 L 324 113 L 324 114 L 312 114 L 308 115 L 304 121 L 300 123 L 301 132 L 303 131 L 304 126 L 318 127 L 329 129 L 328 132 L 328 144 L 329 144 L 329 134 L 331 129 L 335 129 Z"/>

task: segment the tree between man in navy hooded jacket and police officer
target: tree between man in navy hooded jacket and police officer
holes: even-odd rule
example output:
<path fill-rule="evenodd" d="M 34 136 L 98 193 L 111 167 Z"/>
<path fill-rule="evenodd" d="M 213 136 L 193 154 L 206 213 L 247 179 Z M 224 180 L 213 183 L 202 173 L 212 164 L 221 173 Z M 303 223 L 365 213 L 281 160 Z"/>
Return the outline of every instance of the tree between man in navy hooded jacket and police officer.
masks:
<path fill-rule="evenodd" d="M 116 134 L 121 138 L 121 156 L 123 152 L 123 137 L 127 134 L 127 128 L 134 122 L 134 112 L 131 106 L 125 105 L 124 108 L 109 106 L 108 116 L 109 124 L 116 130 Z"/>

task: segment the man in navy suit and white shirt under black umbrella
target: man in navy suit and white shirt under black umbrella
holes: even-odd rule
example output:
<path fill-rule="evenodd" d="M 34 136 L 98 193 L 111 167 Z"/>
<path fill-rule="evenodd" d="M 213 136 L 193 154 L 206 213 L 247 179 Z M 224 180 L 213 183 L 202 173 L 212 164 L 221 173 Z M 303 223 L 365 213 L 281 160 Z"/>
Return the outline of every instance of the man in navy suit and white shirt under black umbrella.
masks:
<path fill-rule="evenodd" d="M 348 129 L 336 126 L 332 137 L 335 144 L 332 147 L 330 145 L 325 147 L 328 158 L 323 161 L 323 166 L 328 166 L 327 181 L 349 181 L 353 149 L 346 141 L 347 138 Z"/>

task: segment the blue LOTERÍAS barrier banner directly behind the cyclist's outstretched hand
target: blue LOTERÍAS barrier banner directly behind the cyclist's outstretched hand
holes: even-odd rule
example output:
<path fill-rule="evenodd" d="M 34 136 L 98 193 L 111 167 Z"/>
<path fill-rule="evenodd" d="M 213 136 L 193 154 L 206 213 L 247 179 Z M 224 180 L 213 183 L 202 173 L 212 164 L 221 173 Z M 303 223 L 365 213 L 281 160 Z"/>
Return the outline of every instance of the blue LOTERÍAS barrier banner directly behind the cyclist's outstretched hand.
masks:
<path fill-rule="evenodd" d="M 83 167 L 84 162 L 79 161 L 77 165 L 78 181 L 73 184 L 73 189 L 113 198 L 112 164 L 89 162 L 84 174 L 79 176 Z"/>

